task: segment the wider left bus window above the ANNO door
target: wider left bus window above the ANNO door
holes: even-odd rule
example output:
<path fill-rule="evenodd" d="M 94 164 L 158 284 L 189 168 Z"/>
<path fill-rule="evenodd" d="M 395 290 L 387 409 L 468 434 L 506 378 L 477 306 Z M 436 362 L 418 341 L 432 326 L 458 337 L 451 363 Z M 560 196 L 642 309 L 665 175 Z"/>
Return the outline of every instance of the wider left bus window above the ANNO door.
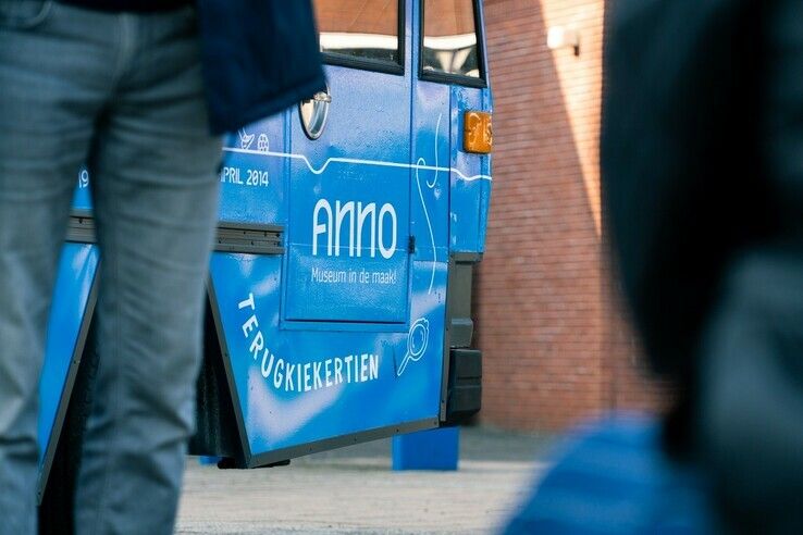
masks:
<path fill-rule="evenodd" d="M 398 0 L 314 0 L 314 9 L 329 63 L 402 64 Z"/>

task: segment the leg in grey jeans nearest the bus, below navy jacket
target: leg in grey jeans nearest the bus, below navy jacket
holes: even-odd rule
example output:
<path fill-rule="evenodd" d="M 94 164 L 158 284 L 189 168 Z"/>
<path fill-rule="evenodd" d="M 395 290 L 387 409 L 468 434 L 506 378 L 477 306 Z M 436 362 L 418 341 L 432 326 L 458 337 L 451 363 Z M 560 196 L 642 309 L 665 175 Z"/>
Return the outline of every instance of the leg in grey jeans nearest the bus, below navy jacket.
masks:
<path fill-rule="evenodd" d="M 221 139 L 190 10 L 122 15 L 131 64 L 94 154 L 99 369 L 76 532 L 171 533 L 194 427 Z"/>

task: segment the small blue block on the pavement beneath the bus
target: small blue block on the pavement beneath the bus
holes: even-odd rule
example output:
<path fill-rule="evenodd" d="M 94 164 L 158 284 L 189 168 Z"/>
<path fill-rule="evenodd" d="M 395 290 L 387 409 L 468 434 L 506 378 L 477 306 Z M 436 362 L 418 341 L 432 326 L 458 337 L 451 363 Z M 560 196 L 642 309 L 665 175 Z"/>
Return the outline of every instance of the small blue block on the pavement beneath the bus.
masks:
<path fill-rule="evenodd" d="M 457 470 L 459 427 L 393 437 L 393 470 Z"/>

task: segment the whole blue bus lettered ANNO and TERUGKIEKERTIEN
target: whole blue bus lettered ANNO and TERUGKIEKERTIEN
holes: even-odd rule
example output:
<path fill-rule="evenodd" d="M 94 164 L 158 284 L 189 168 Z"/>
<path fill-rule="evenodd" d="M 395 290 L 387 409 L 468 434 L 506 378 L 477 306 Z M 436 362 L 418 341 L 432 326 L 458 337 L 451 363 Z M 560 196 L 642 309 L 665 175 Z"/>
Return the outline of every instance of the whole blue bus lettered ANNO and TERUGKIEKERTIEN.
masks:
<path fill-rule="evenodd" d="M 224 149 L 190 444 L 221 465 L 280 464 L 480 407 L 471 282 L 492 182 L 482 4 L 314 4 L 328 90 Z M 82 171 L 48 331 L 40 498 L 74 464 L 97 364 L 89 181 Z"/>

